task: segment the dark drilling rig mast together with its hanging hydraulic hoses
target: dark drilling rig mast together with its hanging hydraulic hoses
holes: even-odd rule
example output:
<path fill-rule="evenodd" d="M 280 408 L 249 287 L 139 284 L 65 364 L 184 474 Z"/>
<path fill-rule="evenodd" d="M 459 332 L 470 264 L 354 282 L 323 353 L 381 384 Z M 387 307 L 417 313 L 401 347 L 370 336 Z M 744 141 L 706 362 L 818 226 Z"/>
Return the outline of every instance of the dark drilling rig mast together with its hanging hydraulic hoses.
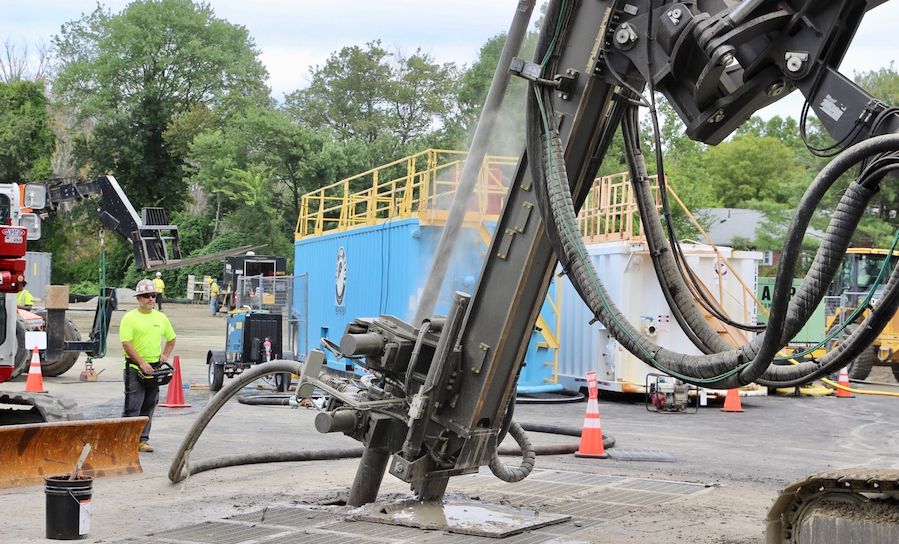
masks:
<path fill-rule="evenodd" d="M 872 318 L 842 351 L 796 367 L 771 366 L 790 331 L 801 328 L 824 295 L 878 184 L 899 167 L 895 111 L 836 71 L 862 16 L 881 3 L 553 0 L 537 61 L 513 63 L 514 71 L 532 81 L 528 150 L 474 294 L 457 293 L 446 318 L 408 324 L 381 316 L 349 325 L 341 354 L 362 359 L 380 378 L 361 393 L 340 394 L 320 374 L 321 355 L 307 357 L 298 396 L 311 385 L 334 393 L 317 428 L 344 432 L 366 445 L 349 503 L 375 499 L 391 456 L 390 473 L 426 500 L 440 498 L 449 477 L 491 463 L 497 439 L 511 424 L 507 415 L 528 333 L 557 257 L 616 340 L 690 383 L 719 388 L 752 381 L 803 383 L 854 357 L 872 333 L 876 337 L 899 306 L 896 273 Z M 650 100 L 642 96 L 647 87 Z M 622 126 L 640 194 L 646 172 L 636 108 L 650 106 L 654 113 L 656 90 L 674 106 L 690 137 L 715 144 L 793 89 L 806 95 L 839 147 L 852 147 L 822 171 L 798 206 L 778 270 L 768 328 L 773 332 L 736 350 L 708 339 L 705 325 L 695 322 L 695 310 L 684 303 L 682 280 L 672 276 L 676 263 L 666 261 L 674 258 L 676 244 L 669 246 L 661 235 L 649 206 L 641 219 L 654 237 L 658 275 L 707 355 L 672 353 L 653 344 L 611 305 L 589 260 L 579 253 L 580 238 L 571 223 L 614 132 Z M 836 211 L 808 281 L 789 301 L 789 280 L 815 205 L 859 162 L 866 165 L 862 175 Z"/>

